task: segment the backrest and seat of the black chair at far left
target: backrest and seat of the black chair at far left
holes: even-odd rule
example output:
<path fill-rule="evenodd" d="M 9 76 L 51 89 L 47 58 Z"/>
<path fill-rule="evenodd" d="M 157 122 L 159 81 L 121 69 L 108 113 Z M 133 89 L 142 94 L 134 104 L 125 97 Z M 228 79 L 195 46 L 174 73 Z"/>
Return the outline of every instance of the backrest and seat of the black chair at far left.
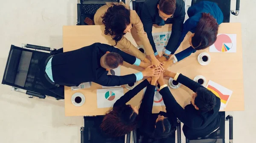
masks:
<path fill-rule="evenodd" d="M 40 78 L 39 65 L 47 54 L 49 53 L 12 45 L 2 84 L 58 98 L 57 94 L 44 86 Z"/>

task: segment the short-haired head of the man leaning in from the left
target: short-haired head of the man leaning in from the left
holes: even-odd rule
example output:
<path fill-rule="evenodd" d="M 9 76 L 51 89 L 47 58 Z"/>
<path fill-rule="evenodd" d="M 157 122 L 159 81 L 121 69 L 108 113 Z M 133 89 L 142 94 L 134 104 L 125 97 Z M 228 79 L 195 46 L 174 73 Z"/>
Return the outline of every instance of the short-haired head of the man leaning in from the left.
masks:
<path fill-rule="evenodd" d="M 117 68 L 123 64 L 123 58 L 119 53 L 107 52 L 100 58 L 100 65 L 108 70 Z"/>

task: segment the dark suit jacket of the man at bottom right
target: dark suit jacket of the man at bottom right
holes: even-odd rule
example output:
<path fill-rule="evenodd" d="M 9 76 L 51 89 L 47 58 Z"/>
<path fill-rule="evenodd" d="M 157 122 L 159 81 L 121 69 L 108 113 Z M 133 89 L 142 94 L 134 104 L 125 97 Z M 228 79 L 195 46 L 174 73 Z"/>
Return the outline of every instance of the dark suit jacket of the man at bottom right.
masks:
<path fill-rule="evenodd" d="M 197 82 L 179 75 L 177 81 L 191 90 L 196 92 L 198 87 L 203 87 Z M 203 87 L 204 88 L 204 87 Z M 187 105 L 184 109 L 177 103 L 168 87 L 164 87 L 159 93 L 163 96 L 163 101 L 166 105 L 166 111 L 174 112 L 175 116 L 184 123 L 183 132 L 189 139 L 198 137 L 205 137 L 213 132 L 220 126 L 219 109 L 221 106 L 221 100 L 216 96 L 216 105 L 214 109 L 209 112 L 201 112 L 192 104 Z"/>

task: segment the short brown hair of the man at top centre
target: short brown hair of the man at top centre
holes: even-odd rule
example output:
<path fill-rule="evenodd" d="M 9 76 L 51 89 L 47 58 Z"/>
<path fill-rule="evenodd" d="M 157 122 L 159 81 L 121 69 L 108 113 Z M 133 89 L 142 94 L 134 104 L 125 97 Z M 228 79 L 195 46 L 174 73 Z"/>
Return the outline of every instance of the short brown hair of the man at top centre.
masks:
<path fill-rule="evenodd" d="M 176 0 L 160 0 L 159 10 L 167 15 L 174 14 L 176 9 Z"/>

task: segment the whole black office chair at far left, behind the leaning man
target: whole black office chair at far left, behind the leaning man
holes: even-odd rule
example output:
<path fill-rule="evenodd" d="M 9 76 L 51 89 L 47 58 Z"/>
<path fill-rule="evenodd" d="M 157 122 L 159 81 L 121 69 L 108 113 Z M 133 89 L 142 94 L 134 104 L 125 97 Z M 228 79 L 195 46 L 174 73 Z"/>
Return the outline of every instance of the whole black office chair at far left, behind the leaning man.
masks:
<path fill-rule="evenodd" d="M 23 47 L 11 45 L 2 84 L 12 86 L 12 90 L 25 93 L 29 95 L 29 98 L 33 96 L 46 98 L 46 95 L 48 95 L 57 100 L 64 99 L 63 86 L 49 90 L 40 77 L 39 65 L 41 59 L 50 52 L 56 51 L 56 49 L 30 44 Z"/>

